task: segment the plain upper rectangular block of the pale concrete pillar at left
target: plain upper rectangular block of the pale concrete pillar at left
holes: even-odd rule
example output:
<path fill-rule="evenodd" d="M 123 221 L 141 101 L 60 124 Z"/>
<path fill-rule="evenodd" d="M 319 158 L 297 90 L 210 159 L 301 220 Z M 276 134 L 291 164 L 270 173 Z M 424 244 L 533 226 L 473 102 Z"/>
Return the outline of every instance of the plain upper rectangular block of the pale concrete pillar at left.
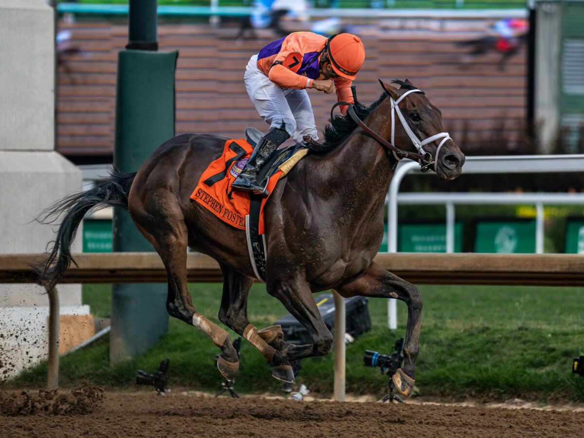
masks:
<path fill-rule="evenodd" d="M 0 149 L 54 149 L 53 10 L 0 0 Z"/>

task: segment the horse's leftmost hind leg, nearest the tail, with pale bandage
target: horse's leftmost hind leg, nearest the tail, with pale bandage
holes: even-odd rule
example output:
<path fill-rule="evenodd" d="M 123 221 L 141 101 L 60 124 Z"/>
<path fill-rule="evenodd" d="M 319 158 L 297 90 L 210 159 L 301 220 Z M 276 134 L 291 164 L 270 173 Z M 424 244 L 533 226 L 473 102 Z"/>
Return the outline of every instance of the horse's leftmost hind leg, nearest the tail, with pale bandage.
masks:
<path fill-rule="evenodd" d="M 134 204 L 131 215 L 138 228 L 160 255 L 168 274 L 166 310 L 172 317 L 193 325 L 221 348 L 217 368 L 227 379 L 237 377 L 239 360 L 227 332 L 197 312 L 187 288 L 186 249 L 188 232 L 176 197 L 165 189 L 151 194 L 147 208 Z"/>

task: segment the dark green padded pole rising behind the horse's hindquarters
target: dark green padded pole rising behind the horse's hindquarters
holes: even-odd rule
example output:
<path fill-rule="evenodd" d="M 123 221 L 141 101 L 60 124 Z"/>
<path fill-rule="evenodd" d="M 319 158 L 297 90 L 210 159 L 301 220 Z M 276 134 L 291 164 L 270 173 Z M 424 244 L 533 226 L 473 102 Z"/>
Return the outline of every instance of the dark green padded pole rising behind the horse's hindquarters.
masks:
<path fill-rule="evenodd" d="M 114 166 L 137 172 L 175 128 L 175 67 L 178 52 L 158 52 L 156 0 L 130 1 L 127 50 L 118 54 Z M 113 251 L 154 251 L 130 215 L 116 208 Z M 110 363 L 130 359 L 168 330 L 166 286 L 112 286 Z"/>

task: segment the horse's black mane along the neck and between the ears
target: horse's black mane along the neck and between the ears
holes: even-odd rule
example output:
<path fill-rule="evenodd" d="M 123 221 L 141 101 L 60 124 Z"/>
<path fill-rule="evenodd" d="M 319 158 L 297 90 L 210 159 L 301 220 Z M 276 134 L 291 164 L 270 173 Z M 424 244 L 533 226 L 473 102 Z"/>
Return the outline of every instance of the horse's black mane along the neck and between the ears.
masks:
<path fill-rule="evenodd" d="M 406 90 L 413 90 L 416 89 L 415 86 L 411 84 L 406 84 L 403 81 L 399 81 L 399 79 L 394 79 L 392 81 L 394 84 L 398 84 L 401 89 Z M 359 101 L 355 101 L 355 113 L 359 117 L 359 119 L 364 120 L 366 119 L 374 109 L 376 109 L 381 102 L 385 98 L 387 98 L 387 92 L 381 93 L 379 99 L 373 102 L 370 106 L 366 107 L 361 104 Z M 339 147 L 349 136 L 350 133 L 354 131 L 357 127 L 357 123 L 353 121 L 353 119 L 347 114 L 346 116 L 333 116 L 332 119 L 329 119 L 329 124 L 325 126 L 325 141 L 323 142 L 323 146 L 319 147 L 316 145 L 308 144 L 308 148 L 312 153 L 316 154 L 326 154 L 326 152 L 330 152 L 337 147 Z"/>

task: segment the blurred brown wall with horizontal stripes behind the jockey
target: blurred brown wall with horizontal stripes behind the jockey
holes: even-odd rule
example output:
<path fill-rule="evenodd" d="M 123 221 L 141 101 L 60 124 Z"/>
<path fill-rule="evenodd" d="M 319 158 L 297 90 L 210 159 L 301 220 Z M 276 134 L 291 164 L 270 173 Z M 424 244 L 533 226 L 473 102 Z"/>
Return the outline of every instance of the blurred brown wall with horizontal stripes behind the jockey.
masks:
<path fill-rule="evenodd" d="M 380 95 L 378 78 L 409 78 L 442 110 L 444 127 L 467 154 L 485 142 L 507 145 L 523 137 L 526 117 L 526 48 L 498 69 L 500 55 L 460 62 L 468 48 L 457 41 L 483 34 L 484 19 L 384 19 L 354 25 L 366 47 L 356 81 L 361 102 Z M 109 156 L 114 143 L 117 51 L 127 42 L 124 19 L 59 23 L 81 53 L 65 55 L 58 67 L 57 150 L 69 157 Z M 294 29 L 298 30 L 298 29 Z M 241 138 L 244 128 L 265 130 L 245 92 L 243 75 L 252 54 L 273 39 L 270 32 L 236 44 L 237 27 L 206 23 L 159 23 L 161 50 L 179 50 L 176 71 L 176 133 L 213 133 Z M 321 130 L 334 95 L 309 90 Z"/>

